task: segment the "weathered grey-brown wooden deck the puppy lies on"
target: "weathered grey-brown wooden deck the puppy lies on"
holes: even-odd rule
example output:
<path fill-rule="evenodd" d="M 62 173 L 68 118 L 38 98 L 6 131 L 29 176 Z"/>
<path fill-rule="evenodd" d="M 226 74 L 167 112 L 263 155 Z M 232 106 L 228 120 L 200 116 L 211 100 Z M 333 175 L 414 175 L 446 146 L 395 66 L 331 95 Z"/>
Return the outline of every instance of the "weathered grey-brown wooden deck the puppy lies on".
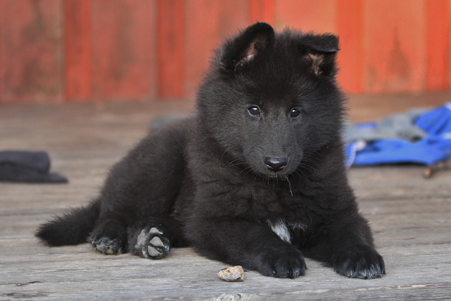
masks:
<path fill-rule="evenodd" d="M 428 96 L 440 104 L 450 95 Z M 425 98 L 352 98 L 351 118 L 368 120 Z M 351 183 L 370 220 L 387 274 L 348 279 L 306 259 L 294 280 L 246 272 L 226 283 L 226 267 L 191 249 L 160 261 L 103 256 L 89 244 L 48 248 L 33 236 L 52 214 L 87 203 L 108 168 L 159 114 L 189 102 L 0 105 L 0 149 L 46 150 L 69 184 L 0 183 L 0 300 L 451 300 L 451 171 L 431 179 L 418 166 L 353 168 Z"/>

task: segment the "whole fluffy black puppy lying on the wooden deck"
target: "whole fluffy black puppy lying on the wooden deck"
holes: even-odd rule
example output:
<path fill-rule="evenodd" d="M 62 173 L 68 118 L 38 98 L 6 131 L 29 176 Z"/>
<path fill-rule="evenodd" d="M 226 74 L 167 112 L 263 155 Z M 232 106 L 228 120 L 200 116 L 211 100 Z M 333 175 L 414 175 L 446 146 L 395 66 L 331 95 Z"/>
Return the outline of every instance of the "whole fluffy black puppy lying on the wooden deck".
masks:
<path fill-rule="evenodd" d="M 381 277 L 343 163 L 337 50 L 331 34 L 249 26 L 216 51 L 195 117 L 149 135 L 92 205 L 36 235 L 154 259 L 189 243 L 274 277 L 303 275 L 303 255 L 348 277 Z"/>

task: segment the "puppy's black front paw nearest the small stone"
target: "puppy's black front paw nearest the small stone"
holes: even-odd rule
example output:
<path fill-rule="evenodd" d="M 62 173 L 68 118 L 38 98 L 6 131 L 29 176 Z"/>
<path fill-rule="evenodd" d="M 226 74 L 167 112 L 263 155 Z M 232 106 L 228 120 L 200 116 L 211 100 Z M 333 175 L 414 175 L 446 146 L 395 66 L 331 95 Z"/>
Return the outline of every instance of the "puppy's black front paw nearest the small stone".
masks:
<path fill-rule="evenodd" d="M 304 275 L 307 266 L 302 253 L 299 250 L 291 250 L 265 254 L 258 269 L 264 276 L 293 279 Z"/>

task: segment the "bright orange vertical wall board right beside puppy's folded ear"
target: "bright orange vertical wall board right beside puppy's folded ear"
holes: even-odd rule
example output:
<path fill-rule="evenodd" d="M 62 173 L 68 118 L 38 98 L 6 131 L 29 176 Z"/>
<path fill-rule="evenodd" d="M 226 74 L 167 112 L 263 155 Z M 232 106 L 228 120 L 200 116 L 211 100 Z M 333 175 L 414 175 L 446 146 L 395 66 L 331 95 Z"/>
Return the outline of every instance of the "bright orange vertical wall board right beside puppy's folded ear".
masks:
<path fill-rule="evenodd" d="M 336 33 L 340 38 L 339 82 L 346 92 L 364 89 L 363 0 L 337 1 Z"/>

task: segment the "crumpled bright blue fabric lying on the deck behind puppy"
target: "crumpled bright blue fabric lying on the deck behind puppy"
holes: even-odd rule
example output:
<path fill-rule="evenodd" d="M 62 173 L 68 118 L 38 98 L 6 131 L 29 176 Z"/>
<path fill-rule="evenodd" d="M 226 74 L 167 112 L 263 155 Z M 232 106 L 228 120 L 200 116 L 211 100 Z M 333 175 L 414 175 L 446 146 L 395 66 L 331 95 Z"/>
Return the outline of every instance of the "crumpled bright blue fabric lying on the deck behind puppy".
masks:
<path fill-rule="evenodd" d="M 351 141 L 345 149 L 348 166 L 389 163 L 431 165 L 451 157 L 451 103 L 419 115 L 414 124 L 427 135 L 417 142 L 386 139 Z M 372 126 L 363 124 L 360 126 Z"/>

